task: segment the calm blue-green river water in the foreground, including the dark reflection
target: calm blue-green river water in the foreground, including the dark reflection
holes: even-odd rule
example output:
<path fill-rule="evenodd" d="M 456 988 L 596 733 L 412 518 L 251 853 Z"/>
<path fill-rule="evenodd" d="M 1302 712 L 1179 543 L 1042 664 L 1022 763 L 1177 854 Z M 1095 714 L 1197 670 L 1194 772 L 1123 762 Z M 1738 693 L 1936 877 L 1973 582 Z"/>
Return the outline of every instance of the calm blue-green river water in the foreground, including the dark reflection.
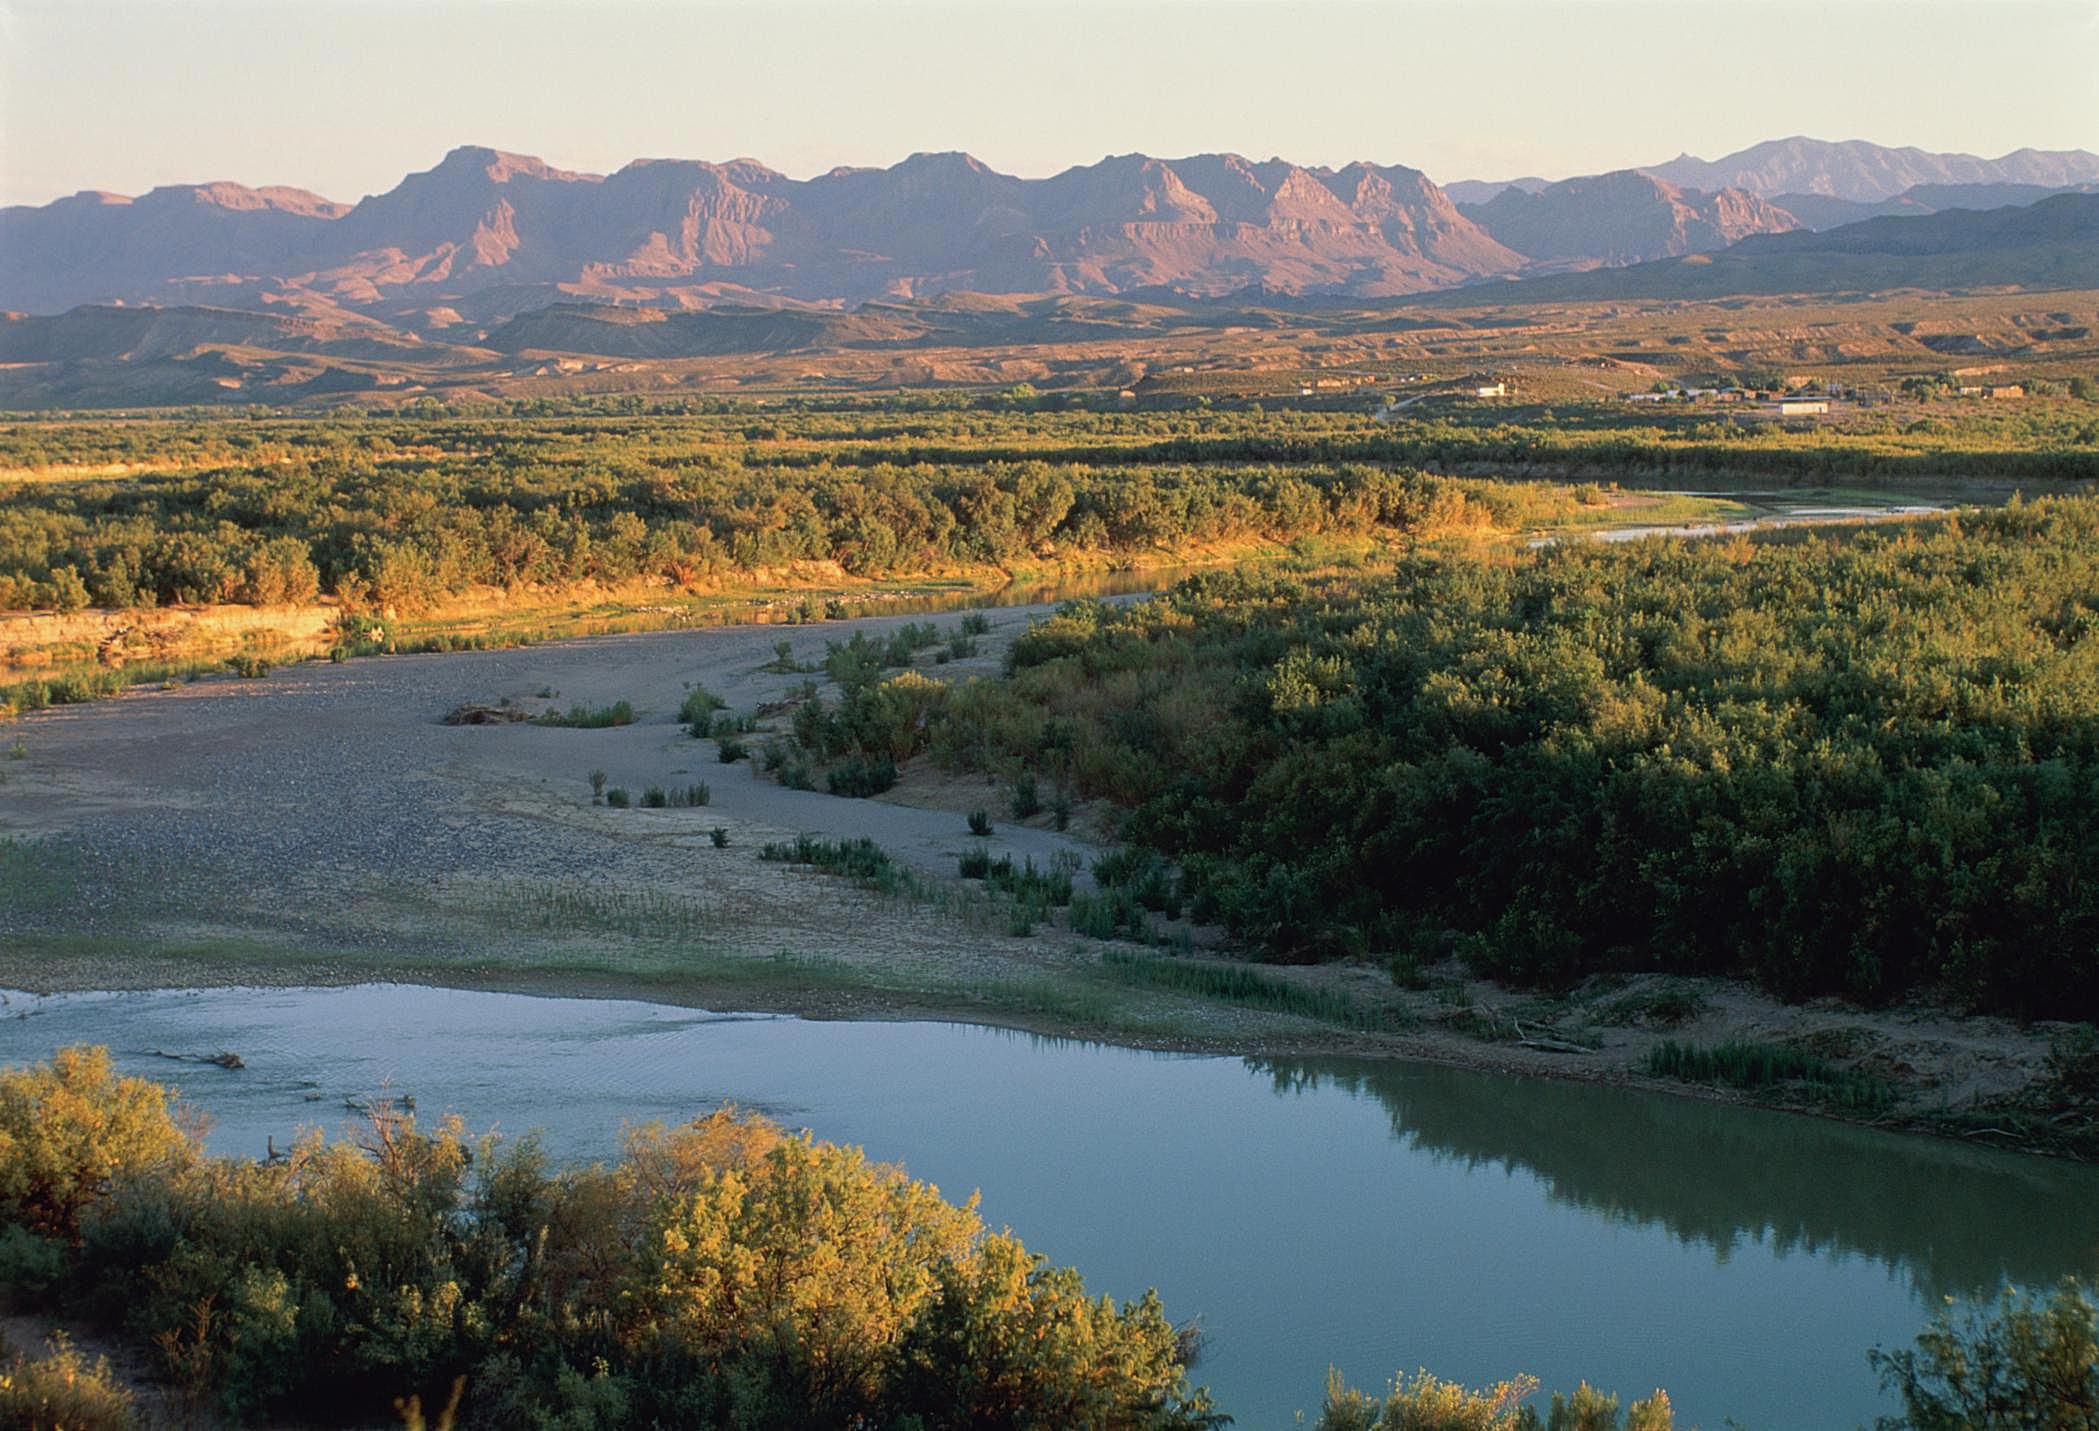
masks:
<path fill-rule="evenodd" d="M 2099 1171 L 1623 1089 L 1383 1060 L 1144 1053 L 966 1024 L 808 1022 L 411 986 L 6 995 L 0 1064 L 105 1043 L 262 1154 L 414 1095 L 607 1156 L 724 1099 L 903 1162 L 1094 1290 L 1201 1316 L 1241 1427 L 1358 1385 L 1641 1395 L 1679 1425 L 1851 1427 L 1866 1347 L 1948 1295 L 2099 1265 Z M 243 1070 L 174 1062 L 231 1049 Z"/>

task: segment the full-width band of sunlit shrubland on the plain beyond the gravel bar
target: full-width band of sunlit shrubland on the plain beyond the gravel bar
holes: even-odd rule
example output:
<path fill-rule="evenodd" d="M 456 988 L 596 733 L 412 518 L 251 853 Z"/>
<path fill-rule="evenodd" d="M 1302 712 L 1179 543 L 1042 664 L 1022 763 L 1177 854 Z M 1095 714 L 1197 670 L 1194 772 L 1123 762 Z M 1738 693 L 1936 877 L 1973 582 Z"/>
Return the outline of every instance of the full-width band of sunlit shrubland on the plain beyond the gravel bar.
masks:
<path fill-rule="evenodd" d="M 1738 428 L 1614 405 L 1371 424 L 1314 411 L 924 401 L 682 415 L 0 426 L 0 608 L 418 608 L 476 585 L 1131 560 L 1238 541 L 1526 527 L 1553 478 L 2099 476 L 2084 403 Z M 97 468 L 139 468 L 97 476 Z M 1434 476 L 1442 472 L 1446 476 Z"/>

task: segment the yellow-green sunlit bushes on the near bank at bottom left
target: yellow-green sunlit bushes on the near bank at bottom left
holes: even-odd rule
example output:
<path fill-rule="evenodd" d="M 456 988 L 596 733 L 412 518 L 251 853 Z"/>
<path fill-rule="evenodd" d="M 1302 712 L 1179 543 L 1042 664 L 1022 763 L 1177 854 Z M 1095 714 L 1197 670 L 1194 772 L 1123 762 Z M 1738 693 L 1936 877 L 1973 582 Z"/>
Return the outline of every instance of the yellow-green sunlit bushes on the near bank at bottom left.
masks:
<path fill-rule="evenodd" d="M 550 1431 L 1226 1421 L 1157 1297 L 1091 1299 L 974 1204 L 730 1110 L 611 1167 L 384 1110 L 248 1162 L 65 1049 L 0 1074 L 0 1290 L 155 1347 L 235 1425 L 369 1425 L 411 1395 Z"/>

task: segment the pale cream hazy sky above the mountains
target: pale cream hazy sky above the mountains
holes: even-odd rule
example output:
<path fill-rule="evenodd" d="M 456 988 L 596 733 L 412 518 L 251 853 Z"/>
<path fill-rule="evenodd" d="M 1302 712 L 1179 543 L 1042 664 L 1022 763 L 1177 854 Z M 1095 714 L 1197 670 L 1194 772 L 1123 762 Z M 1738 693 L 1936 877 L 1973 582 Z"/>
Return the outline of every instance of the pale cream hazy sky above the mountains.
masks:
<path fill-rule="evenodd" d="M 1450 180 L 1786 134 L 2099 149 L 2099 0 L 0 0 L 0 204 L 357 199 L 462 143 L 598 172 L 1232 149 Z"/>

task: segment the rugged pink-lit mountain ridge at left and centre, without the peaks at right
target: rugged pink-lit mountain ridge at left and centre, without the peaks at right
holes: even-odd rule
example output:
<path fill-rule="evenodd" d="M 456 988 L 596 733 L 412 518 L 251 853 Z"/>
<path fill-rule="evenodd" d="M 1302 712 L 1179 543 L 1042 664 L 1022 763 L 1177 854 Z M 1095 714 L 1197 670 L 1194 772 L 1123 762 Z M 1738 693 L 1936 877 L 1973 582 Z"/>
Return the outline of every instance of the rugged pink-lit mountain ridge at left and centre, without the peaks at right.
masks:
<path fill-rule="evenodd" d="M 0 306 L 290 302 L 399 319 L 560 298 L 835 304 L 938 292 L 1398 296 L 1522 256 L 1404 166 L 1119 155 L 1041 180 L 966 153 L 787 178 L 754 159 L 575 174 L 453 149 L 357 206 L 241 185 L 0 210 Z"/>

